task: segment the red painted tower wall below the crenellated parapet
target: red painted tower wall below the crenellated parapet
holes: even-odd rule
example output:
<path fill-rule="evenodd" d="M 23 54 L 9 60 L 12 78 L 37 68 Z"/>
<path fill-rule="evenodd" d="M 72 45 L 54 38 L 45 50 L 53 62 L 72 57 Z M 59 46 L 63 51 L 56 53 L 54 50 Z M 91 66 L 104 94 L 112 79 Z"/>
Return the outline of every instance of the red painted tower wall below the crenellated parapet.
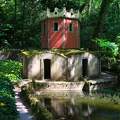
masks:
<path fill-rule="evenodd" d="M 58 31 L 54 31 L 54 22 L 58 22 Z M 73 31 L 69 31 L 69 24 L 73 24 Z M 45 27 L 45 31 L 44 31 Z M 50 18 L 41 22 L 42 48 L 79 48 L 79 22 L 68 18 Z"/>

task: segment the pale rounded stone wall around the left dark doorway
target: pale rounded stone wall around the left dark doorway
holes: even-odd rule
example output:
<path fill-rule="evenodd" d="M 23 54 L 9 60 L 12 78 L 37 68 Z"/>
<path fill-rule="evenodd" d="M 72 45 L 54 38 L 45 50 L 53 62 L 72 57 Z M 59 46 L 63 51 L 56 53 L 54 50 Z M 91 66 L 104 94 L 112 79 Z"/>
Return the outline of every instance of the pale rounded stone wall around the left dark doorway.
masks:
<path fill-rule="evenodd" d="M 66 58 L 52 53 L 24 57 L 24 74 L 30 79 L 44 80 L 44 60 L 51 60 L 51 80 L 66 79 Z M 27 66 L 27 67 L 26 67 Z"/>

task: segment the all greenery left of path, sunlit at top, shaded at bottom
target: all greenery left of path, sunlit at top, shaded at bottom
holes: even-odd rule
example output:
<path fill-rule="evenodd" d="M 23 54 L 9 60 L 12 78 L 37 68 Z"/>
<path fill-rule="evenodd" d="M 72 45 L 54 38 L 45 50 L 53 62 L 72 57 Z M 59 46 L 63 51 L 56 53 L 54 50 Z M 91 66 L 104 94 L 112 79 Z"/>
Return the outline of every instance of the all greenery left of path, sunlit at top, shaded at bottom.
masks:
<path fill-rule="evenodd" d="M 12 60 L 0 61 L 0 120 L 17 120 L 13 84 L 21 79 L 22 64 Z"/>

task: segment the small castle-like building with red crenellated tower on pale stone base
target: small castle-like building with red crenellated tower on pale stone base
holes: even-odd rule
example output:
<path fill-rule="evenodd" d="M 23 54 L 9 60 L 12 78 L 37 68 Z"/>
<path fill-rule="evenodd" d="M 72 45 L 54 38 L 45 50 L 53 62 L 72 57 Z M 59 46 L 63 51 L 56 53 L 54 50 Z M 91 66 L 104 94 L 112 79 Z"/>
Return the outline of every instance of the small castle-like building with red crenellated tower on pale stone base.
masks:
<path fill-rule="evenodd" d="M 101 75 L 97 52 L 81 50 L 79 11 L 55 8 L 51 12 L 47 9 L 40 14 L 40 18 L 41 49 L 22 51 L 25 78 L 48 84 L 54 82 L 56 89 L 59 88 L 59 85 L 57 86 L 59 82 L 75 84 L 82 81 L 86 84 L 86 80 L 87 82 L 92 80 L 89 85 L 93 84 L 93 89 L 97 89 L 99 86 L 97 83 L 103 84 L 106 80 L 109 82 L 114 79 L 112 76 Z M 84 84 L 82 87 L 76 87 L 83 89 Z M 70 87 L 64 83 L 64 88 L 65 86 Z"/>

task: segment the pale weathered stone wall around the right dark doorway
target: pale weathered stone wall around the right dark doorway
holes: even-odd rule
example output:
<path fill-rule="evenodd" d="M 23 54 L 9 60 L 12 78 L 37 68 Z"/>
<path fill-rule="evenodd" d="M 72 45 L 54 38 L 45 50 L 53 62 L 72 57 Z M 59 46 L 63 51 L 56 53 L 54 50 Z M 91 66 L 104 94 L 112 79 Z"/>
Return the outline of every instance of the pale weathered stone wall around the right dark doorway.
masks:
<path fill-rule="evenodd" d="M 90 53 L 71 55 L 68 58 L 68 70 L 70 81 L 82 80 L 82 60 L 88 59 L 88 77 L 96 77 L 100 74 L 99 59 Z"/>

